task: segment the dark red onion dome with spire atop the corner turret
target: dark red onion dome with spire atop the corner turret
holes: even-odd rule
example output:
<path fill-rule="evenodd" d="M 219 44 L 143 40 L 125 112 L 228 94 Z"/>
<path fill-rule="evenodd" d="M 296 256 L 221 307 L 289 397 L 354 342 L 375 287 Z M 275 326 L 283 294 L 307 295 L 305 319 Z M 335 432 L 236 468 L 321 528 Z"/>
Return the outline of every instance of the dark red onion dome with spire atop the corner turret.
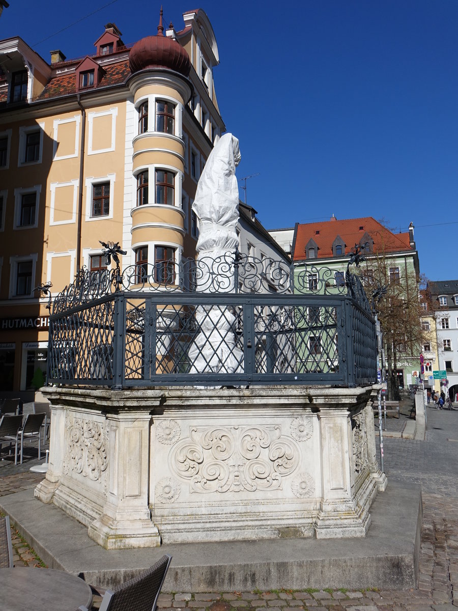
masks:
<path fill-rule="evenodd" d="M 168 68 L 179 72 L 183 76 L 189 75 L 191 60 L 189 60 L 186 50 L 173 38 L 164 36 L 163 32 L 161 9 L 158 34 L 142 38 L 131 48 L 129 53 L 131 72 L 134 73 L 147 68 Z"/>

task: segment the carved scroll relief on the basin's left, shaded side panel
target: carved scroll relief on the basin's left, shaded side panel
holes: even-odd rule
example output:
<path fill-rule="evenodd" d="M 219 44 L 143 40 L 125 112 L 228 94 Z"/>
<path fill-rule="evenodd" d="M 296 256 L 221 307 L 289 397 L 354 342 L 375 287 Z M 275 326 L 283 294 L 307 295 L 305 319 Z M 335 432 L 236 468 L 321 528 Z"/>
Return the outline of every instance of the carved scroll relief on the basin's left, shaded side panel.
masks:
<path fill-rule="evenodd" d="M 106 492 L 108 466 L 108 429 L 99 422 L 73 418 L 65 419 L 66 445 L 63 471 L 71 471 L 99 482 Z"/>

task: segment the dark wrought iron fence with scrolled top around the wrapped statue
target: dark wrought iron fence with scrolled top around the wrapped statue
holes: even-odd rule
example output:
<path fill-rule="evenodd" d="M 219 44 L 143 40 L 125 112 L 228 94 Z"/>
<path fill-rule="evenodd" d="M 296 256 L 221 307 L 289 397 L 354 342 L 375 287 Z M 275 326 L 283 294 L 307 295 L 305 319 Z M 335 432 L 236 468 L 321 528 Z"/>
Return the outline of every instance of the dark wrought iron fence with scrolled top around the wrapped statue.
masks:
<path fill-rule="evenodd" d="M 373 384 L 374 318 L 340 274 L 238 254 L 81 270 L 53 302 L 48 384 Z"/>

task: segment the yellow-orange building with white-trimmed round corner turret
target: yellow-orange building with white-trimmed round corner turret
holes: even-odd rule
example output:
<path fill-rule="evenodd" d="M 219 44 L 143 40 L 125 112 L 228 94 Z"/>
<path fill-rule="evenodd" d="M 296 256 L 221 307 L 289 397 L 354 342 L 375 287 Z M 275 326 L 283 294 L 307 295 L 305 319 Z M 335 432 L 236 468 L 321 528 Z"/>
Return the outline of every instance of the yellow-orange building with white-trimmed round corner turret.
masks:
<path fill-rule="evenodd" d="M 213 84 L 219 64 L 202 10 L 184 27 L 125 45 L 109 23 L 95 53 L 48 64 L 21 38 L 0 40 L 0 393 L 42 385 L 46 297 L 81 266 L 107 267 L 100 241 L 119 242 L 122 268 L 194 256 L 191 205 L 225 130 Z M 83 53 L 89 49 L 82 49 Z M 112 264 L 113 265 L 113 264 Z"/>

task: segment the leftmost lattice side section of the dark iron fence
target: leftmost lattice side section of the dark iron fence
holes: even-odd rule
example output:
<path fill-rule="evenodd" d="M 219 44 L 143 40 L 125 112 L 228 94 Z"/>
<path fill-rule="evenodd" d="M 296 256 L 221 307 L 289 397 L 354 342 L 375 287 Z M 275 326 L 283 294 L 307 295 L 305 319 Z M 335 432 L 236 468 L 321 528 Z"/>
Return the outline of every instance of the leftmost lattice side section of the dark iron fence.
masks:
<path fill-rule="evenodd" d="M 111 384 L 114 301 L 58 316 L 49 328 L 48 379 Z"/>

